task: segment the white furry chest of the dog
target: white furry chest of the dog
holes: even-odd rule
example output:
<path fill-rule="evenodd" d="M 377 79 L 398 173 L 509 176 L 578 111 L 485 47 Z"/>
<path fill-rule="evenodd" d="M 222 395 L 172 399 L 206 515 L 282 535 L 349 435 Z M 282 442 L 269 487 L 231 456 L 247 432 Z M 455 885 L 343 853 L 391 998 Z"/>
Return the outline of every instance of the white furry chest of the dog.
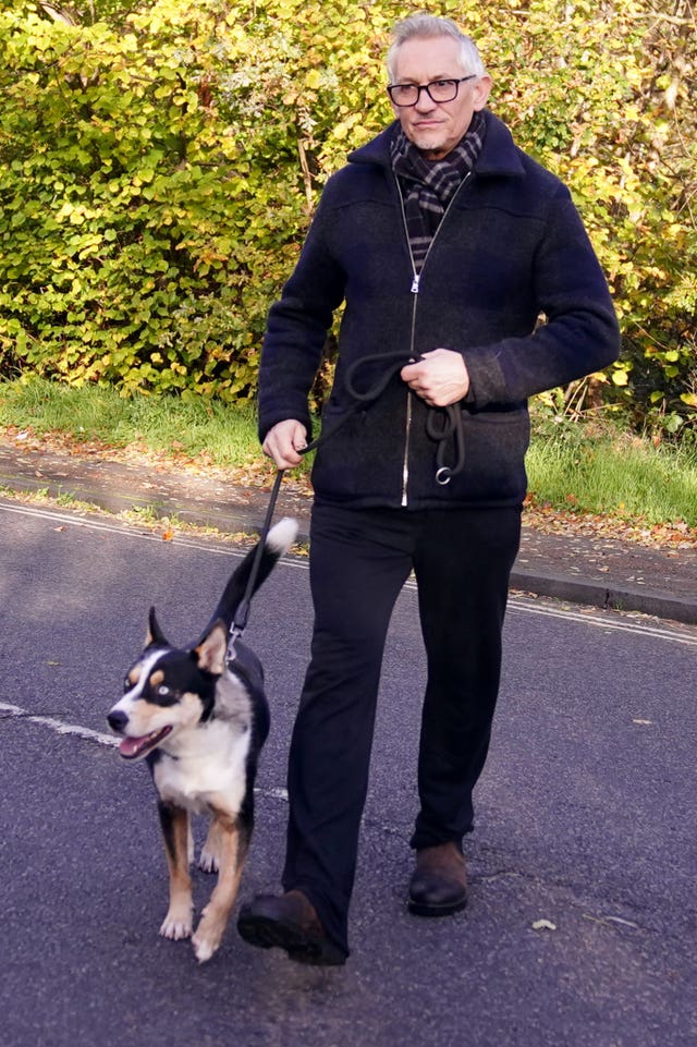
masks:
<path fill-rule="evenodd" d="M 172 751 L 162 753 L 154 768 L 160 798 L 193 814 L 212 805 L 235 815 L 246 790 L 246 758 L 250 731 L 231 730 L 224 720 L 212 720 L 182 732 Z"/>

